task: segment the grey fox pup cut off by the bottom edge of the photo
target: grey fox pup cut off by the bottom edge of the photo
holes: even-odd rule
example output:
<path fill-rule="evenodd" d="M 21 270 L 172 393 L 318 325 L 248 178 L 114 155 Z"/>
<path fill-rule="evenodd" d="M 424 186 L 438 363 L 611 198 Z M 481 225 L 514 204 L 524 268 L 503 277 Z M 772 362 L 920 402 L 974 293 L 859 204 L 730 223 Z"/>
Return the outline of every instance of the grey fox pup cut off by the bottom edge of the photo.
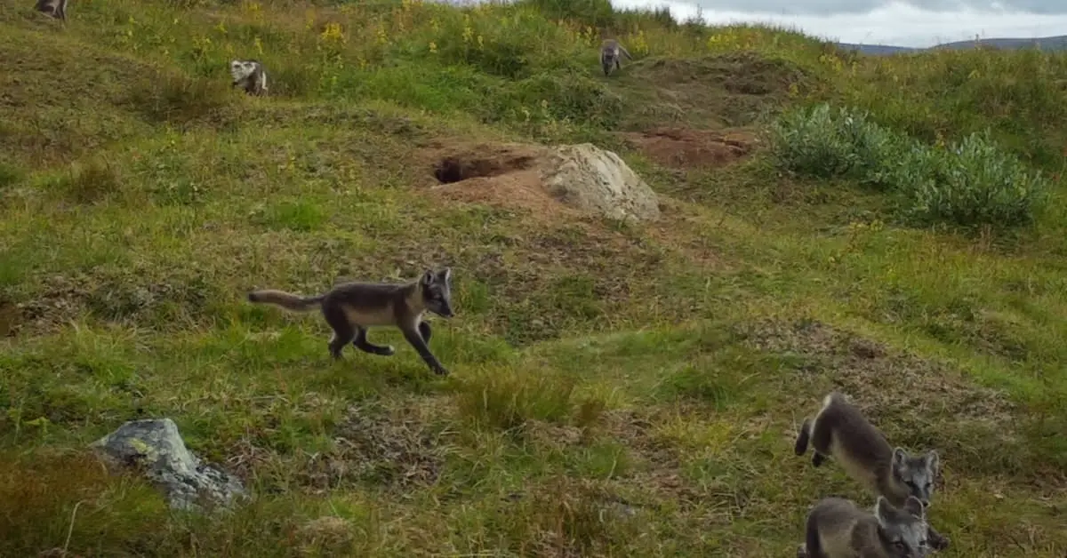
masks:
<path fill-rule="evenodd" d="M 878 496 L 873 513 L 831 496 L 808 512 L 797 558 L 918 558 L 930 553 L 928 533 L 926 512 L 914 496 L 901 508 Z"/>

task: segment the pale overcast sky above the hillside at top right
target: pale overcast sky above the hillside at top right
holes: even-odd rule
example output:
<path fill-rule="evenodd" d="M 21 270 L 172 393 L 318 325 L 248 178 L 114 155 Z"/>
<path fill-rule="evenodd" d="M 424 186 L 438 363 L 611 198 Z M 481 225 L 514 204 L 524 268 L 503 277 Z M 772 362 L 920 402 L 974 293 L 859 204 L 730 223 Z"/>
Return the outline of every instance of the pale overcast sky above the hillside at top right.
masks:
<path fill-rule="evenodd" d="M 611 0 L 668 5 L 675 19 L 703 7 L 708 23 L 764 21 L 842 43 L 929 47 L 982 38 L 1067 35 L 1067 0 Z M 919 7 L 919 6 L 922 7 Z"/>

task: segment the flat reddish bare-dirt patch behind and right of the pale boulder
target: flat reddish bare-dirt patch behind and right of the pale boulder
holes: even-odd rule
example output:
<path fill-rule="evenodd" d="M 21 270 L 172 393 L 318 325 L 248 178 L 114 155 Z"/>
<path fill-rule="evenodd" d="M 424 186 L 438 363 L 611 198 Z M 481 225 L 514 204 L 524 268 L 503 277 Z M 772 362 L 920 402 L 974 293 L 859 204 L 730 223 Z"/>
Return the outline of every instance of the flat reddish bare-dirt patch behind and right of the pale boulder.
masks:
<path fill-rule="evenodd" d="M 721 166 L 750 154 L 759 143 L 744 130 L 689 130 L 653 128 L 643 132 L 621 132 L 627 143 L 666 166 Z"/>

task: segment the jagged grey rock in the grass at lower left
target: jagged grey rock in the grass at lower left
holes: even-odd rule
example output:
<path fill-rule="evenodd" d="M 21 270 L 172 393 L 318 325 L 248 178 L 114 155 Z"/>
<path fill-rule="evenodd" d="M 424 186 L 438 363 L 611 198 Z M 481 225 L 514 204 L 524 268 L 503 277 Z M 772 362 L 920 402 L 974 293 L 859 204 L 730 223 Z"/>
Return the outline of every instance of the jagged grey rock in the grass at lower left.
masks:
<path fill-rule="evenodd" d="M 170 418 L 130 420 L 91 447 L 113 466 L 143 472 L 163 490 L 171 508 L 200 510 L 204 500 L 228 506 L 246 495 L 239 479 L 201 463 Z"/>

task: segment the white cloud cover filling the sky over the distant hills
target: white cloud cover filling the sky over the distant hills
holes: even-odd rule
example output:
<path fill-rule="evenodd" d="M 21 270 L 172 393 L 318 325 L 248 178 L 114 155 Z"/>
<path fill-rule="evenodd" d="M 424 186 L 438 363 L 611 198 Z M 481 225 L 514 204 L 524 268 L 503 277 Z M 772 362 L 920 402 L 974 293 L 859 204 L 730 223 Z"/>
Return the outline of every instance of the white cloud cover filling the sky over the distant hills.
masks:
<path fill-rule="evenodd" d="M 667 5 L 675 19 L 697 13 L 697 2 L 668 0 L 611 0 L 616 7 Z M 871 12 L 828 15 L 781 15 L 746 13 L 705 7 L 704 20 L 712 25 L 768 22 L 842 43 L 866 43 L 902 47 L 930 47 L 939 43 L 999 37 L 1067 35 L 1067 14 L 1033 14 L 1006 10 L 964 9 L 952 12 L 923 10 L 892 2 Z"/>

